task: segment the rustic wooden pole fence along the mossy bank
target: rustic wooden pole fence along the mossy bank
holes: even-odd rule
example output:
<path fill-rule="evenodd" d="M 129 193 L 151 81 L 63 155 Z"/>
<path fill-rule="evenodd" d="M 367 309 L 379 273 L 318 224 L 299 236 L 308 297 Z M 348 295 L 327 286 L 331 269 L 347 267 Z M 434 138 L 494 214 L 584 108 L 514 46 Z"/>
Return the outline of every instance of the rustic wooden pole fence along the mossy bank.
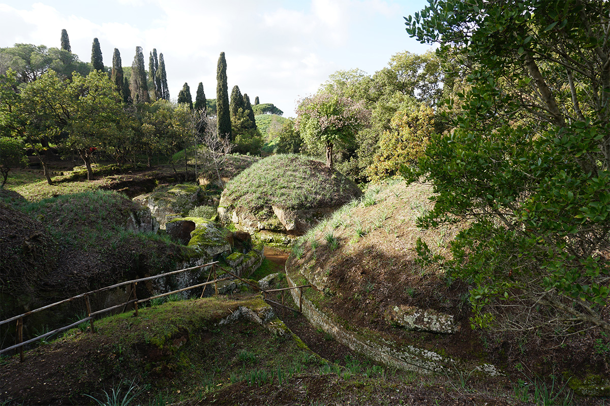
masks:
<path fill-rule="evenodd" d="M 288 306 L 285 306 L 285 304 L 284 304 L 284 291 L 288 290 L 288 289 L 299 289 L 300 290 L 300 295 L 302 296 L 303 295 L 303 288 L 304 287 L 309 287 L 310 285 L 288 287 L 288 288 L 284 288 L 284 289 L 264 290 L 264 289 L 260 289 L 259 285 L 255 285 L 252 282 L 247 281 L 246 279 L 242 279 L 239 276 L 235 275 L 234 273 L 232 273 L 231 271 L 228 271 L 226 269 L 224 269 L 223 271 L 228 273 L 231 276 L 227 276 L 225 278 L 217 279 L 217 276 L 216 276 L 217 265 L 218 265 L 218 262 L 210 262 L 209 264 L 198 265 L 198 266 L 192 267 L 192 268 L 185 268 L 185 269 L 181 269 L 181 270 L 177 270 L 177 271 L 171 271 L 171 272 L 167 272 L 167 273 L 162 273 L 160 275 L 148 276 L 148 278 L 140 278 L 140 279 L 134 279 L 133 281 L 121 282 L 121 283 L 110 285 L 110 286 L 107 286 L 107 287 L 102 287 L 101 289 L 91 290 L 91 292 L 81 293 L 80 295 L 72 296 L 71 298 L 63 299 L 63 300 L 61 300 L 59 302 L 48 304 L 47 306 L 39 307 L 38 309 L 30 310 L 29 312 L 23 313 L 21 315 L 18 315 L 18 316 L 15 316 L 15 317 L 11 317 L 11 318 L 7 318 L 6 320 L 2 320 L 2 321 L 0 321 L 0 326 L 2 326 L 2 324 L 10 323 L 11 321 L 15 321 L 15 320 L 16 320 L 17 324 L 16 324 L 15 345 L 10 346 L 8 348 L 1 349 L 0 350 L 0 354 L 4 354 L 4 352 L 10 351 L 12 349 L 14 349 L 15 351 L 17 351 L 17 349 L 19 349 L 19 351 L 20 351 L 20 359 L 21 359 L 21 362 L 23 362 L 23 346 L 31 344 L 31 343 L 34 343 L 35 341 L 38 341 L 38 340 L 42 340 L 43 338 L 49 337 L 49 336 L 57 334 L 59 332 L 69 330 L 69 329 L 71 329 L 73 327 L 79 326 L 79 324 L 81 324 L 81 323 L 89 322 L 90 323 L 90 327 L 91 327 L 90 331 L 91 331 L 91 333 L 94 333 L 95 332 L 95 326 L 93 325 L 93 320 L 94 320 L 94 318 L 96 316 L 101 315 L 102 313 L 106 313 L 106 312 L 109 312 L 110 310 L 118 309 L 121 306 L 123 307 L 123 310 L 124 310 L 125 307 L 129 306 L 129 304 L 133 304 L 134 305 L 135 316 L 137 317 L 138 316 L 138 303 L 143 303 L 143 302 L 149 301 L 151 299 L 156 299 L 156 298 L 160 298 L 160 297 L 163 297 L 163 296 L 172 295 L 173 293 L 185 292 L 186 290 L 191 290 L 191 289 L 195 289 L 195 288 L 202 287 L 202 286 L 203 286 L 203 291 L 201 292 L 201 296 L 200 297 L 203 297 L 203 293 L 206 291 L 207 285 L 211 285 L 211 284 L 214 284 L 215 295 L 218 295 L 218 282 L 226 281 L 228 279 L 233 279 L 233 278 L 237 278 L 240 281 L 243 281 L 243 282 L 246 282 L 249 285 L 252 285 L 256 289 L 261 290 L 264 293 L 264 295 L 265 295 L 264 297 L 265 297 L 266 301 L 278 304 L 279 306 L 282 306 L 282 309 L 289 309 L 289 310 L 293 310 L 295 312 L 301 313 L 302 307 L 299 307 L 299 310 L 296 310 L 296 309 L 292 309 L 292 308 L 290 308 Z M 138 284 L 138 282 L 151 281 L 152 279 L 163 278 L 164 276 L 176 275 L 176 274 L 182 273 L 184 271 L 192 271 L 192 270 L 195 270 L 195 269 L 205 268 L 205 267 L 210 267 L 210 266 L 212 267 L 212 269 L 210 270 L 210 274 L 209 274 L 209 276 L 207 278 L 207 281 L 205 283 L 191 285 L 189 287 L 185 287 L 184 289 L 173 290 L 171 292 L 162 293 L 160 295 L 150 296 L 150 297 L 145 298 L 145 299 L 138 299 L 136 294 L 135 294 L 135 286 Z M 210 278 L 212 277 L 212 275 L 213 275 L 213 280 L 210 281 Z M 127 296 L 127 301 L 125 301 L 123 303 L 120 303 L 120 304 L 117 304 L 117 305 L 112 306 L 112 307 L 107 307 L 106 309 L 97 310 L 95 312 L 91 311 L 91 304 L 90 304 L 90 301 L 89 301 L 89 296 L 94 295 L 96 293 L 104 292 L 106 290 L 116 289 L 118 287 L 126 286 L 126 285 L 131 285 L 131 290 L 129 292 L 129 296 Z M 278 303 L 276 301 L 273 301 L 273 300 L 267 298 L 267 294 L 268 293 L 272 293 L 272 292 L 282 292 L 282 303 Z M 133 296 L 133 298 L 131 298 L 132 296 Z M 68 303 L 68 302 L 73 301 L 74 299 L 80 299 L 80 298 L 84 298 L 84 301 L 85 301 L 85 312 L 87 314 L 87 317 L 83 318 L 82 320 L 76 321 L 76 322 L 70 324 L 69 326 L 60 327 L 59 329 L 55 329 L 53 331 L 46 332 L 45 334 L 38 335 L 37 337 L 30 338 L 30 340 L 23 341 L 23 318 L 24 317 L 27 317 L 28 315 L 32 315 L 34 313 L 41 312 L 42 310 L 51 309 L 52 307 L 59 306 L 60 304 Z"/>

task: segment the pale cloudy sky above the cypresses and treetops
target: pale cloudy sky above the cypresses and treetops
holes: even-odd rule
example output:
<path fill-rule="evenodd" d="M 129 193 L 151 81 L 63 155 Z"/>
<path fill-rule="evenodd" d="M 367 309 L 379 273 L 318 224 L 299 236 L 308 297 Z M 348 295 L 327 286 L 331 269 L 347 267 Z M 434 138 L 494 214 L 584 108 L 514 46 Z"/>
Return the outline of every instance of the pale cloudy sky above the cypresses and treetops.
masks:
<path fill-rule="evenodd" d="M 398 52 L 431 49 L 404 30 L 403 16 L 426 0 L 0 0 L 0 47 L 16 43 L 60 47 L 62 29 L 72 52 L 91 61 L 98 38 L 104 65 L 115 48 L 131 66 L 141 46 L 148 68 L 153 48 L 165 59 L 170 97 L 188 83 L 193 100 L 199 82 L 216 97 L 220 52 L 227 61 L 229 93 L 237 85 L 254 103 L 273 103 L 295 116 L 310 96 L 339 70 L 367 74 L 387 66 Z"/>

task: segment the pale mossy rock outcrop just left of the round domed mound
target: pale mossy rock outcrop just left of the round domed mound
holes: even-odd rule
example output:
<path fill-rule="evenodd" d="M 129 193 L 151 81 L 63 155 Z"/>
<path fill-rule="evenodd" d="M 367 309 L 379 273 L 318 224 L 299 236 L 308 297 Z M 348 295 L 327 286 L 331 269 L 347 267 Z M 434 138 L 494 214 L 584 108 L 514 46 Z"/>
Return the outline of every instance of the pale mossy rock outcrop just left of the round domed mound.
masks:
<path fill-rule="evenodd" d="M 162 229 L 165 229 L 165 224 L 172 216 L 187 215 L 195 206 L 205 203 L 201 187 L 192 184 L 159 186 L 151 193 L 134 197 L 133 200 L 147 206 Z"/>

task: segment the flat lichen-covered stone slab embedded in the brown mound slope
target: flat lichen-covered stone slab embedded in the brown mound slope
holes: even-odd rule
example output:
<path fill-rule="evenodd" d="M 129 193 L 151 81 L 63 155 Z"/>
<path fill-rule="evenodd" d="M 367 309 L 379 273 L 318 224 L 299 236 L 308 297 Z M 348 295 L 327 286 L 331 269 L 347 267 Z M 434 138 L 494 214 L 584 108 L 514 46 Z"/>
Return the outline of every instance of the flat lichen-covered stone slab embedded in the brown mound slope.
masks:
<path fill-rule="evenodd" d="M 414 306 L 390 306 L 385 312 L 385 318 L 389 323 L 414 331 L 453 334 L 460 329 L 452 315 Z"/>

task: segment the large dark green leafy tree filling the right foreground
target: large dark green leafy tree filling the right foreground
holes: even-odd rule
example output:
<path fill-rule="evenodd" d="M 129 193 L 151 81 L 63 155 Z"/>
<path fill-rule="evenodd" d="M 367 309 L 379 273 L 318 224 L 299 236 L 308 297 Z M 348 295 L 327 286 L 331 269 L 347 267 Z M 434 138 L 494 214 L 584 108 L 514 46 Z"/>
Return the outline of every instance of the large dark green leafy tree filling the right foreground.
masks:
<path fill-rule="evenodd" d="M 407 18 L 467 74 L 447 100 L 455 129 L 432 136 L 409 179 L 434 185 L 422 225 L 471 221 L 442 265 L 474 285 L 475 325 L 498 326 L 512 301 L 504 326 L 610 332 L 608 6 L 440 0 Z"/>

